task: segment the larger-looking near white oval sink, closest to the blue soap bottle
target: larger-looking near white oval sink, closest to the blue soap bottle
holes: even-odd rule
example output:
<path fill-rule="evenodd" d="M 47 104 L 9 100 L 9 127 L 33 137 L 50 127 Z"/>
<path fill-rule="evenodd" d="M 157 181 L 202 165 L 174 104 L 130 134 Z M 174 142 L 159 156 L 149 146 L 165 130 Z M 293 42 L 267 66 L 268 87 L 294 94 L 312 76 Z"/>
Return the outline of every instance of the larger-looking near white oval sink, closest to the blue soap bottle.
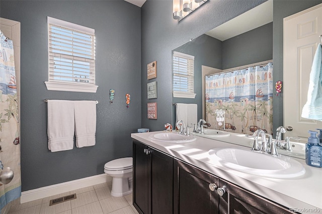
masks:
<path fill-rule="evenodd" d="M 216 148 L 208 153 L 227 168 L 263 177 L 294 178 L 305 173 L 301 163 L 284 155 L 273 157 L 241 148 Z"/>

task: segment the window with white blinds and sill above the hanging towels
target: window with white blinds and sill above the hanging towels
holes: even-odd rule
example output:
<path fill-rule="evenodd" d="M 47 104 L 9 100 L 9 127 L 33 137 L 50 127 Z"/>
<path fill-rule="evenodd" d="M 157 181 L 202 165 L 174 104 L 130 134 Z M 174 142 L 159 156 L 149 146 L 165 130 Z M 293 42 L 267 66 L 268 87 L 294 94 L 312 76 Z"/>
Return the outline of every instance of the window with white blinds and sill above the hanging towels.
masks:
<path fill-rule="evenodd" d="M 96 92 L 95 30 L 48 17 L 48 90 Z"/>

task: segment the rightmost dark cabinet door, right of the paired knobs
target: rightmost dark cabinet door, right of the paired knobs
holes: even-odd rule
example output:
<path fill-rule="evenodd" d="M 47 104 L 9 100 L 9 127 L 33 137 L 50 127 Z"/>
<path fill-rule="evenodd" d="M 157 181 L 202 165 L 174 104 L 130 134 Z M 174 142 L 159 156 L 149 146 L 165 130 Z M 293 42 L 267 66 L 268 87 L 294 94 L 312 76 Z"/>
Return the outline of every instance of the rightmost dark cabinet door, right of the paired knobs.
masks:
<path fill-rule="evenodd" d="M 222 196 L 219 196 L 220 213 L 293 213 L 279 204 L 221 179 L 219 188 L 223 188 L 225 191 Z"/>

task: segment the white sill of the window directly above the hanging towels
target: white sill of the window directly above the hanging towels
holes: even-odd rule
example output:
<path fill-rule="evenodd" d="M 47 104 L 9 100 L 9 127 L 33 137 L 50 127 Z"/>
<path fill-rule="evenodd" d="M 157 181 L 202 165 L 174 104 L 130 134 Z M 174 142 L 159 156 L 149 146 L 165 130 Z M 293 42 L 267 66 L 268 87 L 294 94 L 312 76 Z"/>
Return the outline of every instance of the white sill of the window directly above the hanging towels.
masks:
<path fill-rule="evenodd" d="M 64 82 L 45 82 L 47 90 L 96 93 L 98 85 L 72 84 Z"/>

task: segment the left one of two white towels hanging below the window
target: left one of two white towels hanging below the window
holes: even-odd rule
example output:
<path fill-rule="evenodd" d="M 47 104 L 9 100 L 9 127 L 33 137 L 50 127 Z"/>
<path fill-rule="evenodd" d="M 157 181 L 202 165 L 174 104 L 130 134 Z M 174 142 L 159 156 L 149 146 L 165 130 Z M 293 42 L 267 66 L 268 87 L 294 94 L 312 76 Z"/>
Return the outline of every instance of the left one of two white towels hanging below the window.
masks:
<path fill-rule="evenodd" d="M 48 149 L 51 152 L 74 147 L 74 103 L 71 100 L 48 100 Z"/>

